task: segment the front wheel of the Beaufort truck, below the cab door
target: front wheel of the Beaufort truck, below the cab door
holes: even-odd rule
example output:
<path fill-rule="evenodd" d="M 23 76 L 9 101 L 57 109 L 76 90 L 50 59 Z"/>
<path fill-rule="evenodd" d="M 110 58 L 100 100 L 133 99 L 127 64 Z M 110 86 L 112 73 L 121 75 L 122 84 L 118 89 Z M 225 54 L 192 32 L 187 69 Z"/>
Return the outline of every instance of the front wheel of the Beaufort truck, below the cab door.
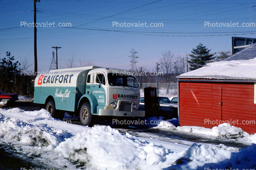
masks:
<path fill-rule="evenodd" d="M 80 108 L 80 122 L 83 126 L 90 126 L 92 120 L 91 107 L 88 102 L 85 102 L 81 105 Z"/>

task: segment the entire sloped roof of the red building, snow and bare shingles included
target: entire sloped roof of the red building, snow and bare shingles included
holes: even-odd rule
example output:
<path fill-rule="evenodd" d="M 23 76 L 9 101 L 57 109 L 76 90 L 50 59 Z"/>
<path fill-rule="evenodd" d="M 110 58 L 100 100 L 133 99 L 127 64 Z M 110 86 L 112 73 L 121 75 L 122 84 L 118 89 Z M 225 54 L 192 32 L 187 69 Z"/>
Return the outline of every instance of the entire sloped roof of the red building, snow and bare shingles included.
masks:
<path fill-rule="evenodd" d="M 178 79 L 256 80 L 256 43 L 221 62 L 177 76 Z"/>

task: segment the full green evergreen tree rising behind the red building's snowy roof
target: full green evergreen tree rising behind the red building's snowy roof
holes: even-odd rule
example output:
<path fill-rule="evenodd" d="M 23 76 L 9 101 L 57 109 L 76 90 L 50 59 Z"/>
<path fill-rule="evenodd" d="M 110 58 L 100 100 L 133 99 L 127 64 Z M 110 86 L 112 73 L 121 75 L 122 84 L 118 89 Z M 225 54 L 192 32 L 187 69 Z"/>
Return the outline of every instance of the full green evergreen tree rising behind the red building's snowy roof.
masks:
<path fill-rule="evenodd" d="M 206 48 L 203 44 L 199 43 L 197 48 L 192 49 L 192 55 L 189 55 L 191 58 L 187 62 L 189 62 L 189 70 L 194 70 L 201 68 L 202 66 L 206 65 L 206 63 L 212 62 L 215 58 L 214 54 L 209 54 L 211 49 Z"/>

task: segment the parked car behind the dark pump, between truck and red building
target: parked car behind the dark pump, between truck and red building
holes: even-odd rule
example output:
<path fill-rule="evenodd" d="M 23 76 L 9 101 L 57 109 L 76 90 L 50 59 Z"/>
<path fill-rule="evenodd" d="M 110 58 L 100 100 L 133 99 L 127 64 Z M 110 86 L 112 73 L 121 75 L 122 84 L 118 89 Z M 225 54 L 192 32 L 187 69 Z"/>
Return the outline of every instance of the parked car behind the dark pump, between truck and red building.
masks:
<path fill-rule="evenodd" d="M 178 104 L 173 104 L 168 97 L 158 97 L 159 113 L 167 118 L 178 118 Z M 140 97 L 139 110 L 145 110 L 145 99 Z"/>

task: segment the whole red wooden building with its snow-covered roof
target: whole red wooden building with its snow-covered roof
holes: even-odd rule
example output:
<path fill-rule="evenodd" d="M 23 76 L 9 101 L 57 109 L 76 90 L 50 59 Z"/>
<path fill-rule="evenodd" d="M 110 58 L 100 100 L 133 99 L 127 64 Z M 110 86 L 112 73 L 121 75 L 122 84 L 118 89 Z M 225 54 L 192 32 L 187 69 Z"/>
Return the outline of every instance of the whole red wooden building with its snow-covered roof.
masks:
<path fill-rule="evenodd" d="M 212 128 L 228 122 L 256 133 L 256 44 L 181 74 L 178 88 L 180 126 Z"/>

